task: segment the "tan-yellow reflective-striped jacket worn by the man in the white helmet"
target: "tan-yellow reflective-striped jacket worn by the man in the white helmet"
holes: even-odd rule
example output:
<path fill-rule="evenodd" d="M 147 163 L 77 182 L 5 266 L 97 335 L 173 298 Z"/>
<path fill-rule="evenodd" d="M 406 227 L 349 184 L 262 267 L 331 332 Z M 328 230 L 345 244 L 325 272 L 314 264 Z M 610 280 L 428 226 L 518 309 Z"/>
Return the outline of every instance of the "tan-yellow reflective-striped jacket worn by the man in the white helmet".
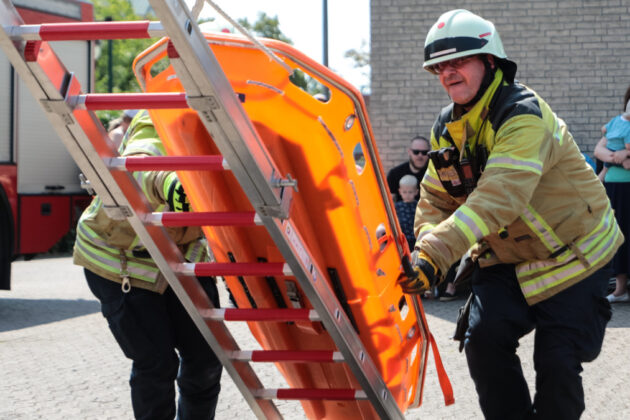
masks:
<path fill-rule="evenodd" d="M 501 70 L 468 112 L 453 104 L 431 132 L 432 149 L 482 144 L 476 188 L 453 197 L 433 162 L 421 183 L 414 232 L 446 273 L 470 250 L 480 266 L 511 263 L 533 305 L 586 278 L 623 242 L 606 192 L 566 124 L 534 91 Z"/>

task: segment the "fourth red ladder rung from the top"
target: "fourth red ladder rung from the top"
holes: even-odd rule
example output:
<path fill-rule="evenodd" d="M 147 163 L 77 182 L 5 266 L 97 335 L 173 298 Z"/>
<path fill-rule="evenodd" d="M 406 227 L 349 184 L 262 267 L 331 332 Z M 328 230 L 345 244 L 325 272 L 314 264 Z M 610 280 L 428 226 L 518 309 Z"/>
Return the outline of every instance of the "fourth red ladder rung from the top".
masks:
<path fill-rule="evenodd" d="M 147 214 L 144 222 L 156 226 L 260 226 L 253 211 L 244 212 L 165 212 Z"/>

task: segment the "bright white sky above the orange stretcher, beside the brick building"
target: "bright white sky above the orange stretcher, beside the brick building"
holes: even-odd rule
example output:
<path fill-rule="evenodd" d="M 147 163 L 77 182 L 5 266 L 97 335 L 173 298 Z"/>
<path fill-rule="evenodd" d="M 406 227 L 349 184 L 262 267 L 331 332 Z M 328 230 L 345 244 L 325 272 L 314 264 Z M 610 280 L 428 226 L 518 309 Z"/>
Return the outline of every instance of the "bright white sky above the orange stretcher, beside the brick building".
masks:
<path fill-rule="evenodd" d="M 190 7 L 194 0 L 186 0 Z M 247 18 L 256 22 L 259 12 L 277 16 L 280 30 L 293 41 L 293 46 L 315 61 L 323 62 L 323 3 L 322 0 L 214 0 L 234 20 Z M 201 17 L 222 19 L 206 4 Z M 369 51 L 369 0 L 328 1 L 328 67 L 358 89 L 369 85 L 365 69 L 353 67 L 345 58 L 350 49 Z"/>

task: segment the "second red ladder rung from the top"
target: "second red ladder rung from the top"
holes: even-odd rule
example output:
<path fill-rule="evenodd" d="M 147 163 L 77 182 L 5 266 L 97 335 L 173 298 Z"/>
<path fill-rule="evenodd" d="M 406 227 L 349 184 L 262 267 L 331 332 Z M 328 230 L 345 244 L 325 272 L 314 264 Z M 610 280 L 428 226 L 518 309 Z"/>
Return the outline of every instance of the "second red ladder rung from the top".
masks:
<path fill-rule="evenodd" d="M 112 109 L 181 109 L 189 108 L 186 93 L 88 93 L 71 98 L 76 105 L 90 111 Z"/>

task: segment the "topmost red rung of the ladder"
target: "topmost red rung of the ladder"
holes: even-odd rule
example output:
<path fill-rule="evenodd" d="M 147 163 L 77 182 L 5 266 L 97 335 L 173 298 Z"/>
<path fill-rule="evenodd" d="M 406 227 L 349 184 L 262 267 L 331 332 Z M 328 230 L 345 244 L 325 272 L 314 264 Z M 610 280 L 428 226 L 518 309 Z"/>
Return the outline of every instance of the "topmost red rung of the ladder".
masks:
<path fill-rule="evenodd" d="M 88 41 L 97 39 L 144 39 L 164 36 L 160 22 L 68 22 L 20 25 L 6 28 L 11 39 L 27 41 Z"/>

